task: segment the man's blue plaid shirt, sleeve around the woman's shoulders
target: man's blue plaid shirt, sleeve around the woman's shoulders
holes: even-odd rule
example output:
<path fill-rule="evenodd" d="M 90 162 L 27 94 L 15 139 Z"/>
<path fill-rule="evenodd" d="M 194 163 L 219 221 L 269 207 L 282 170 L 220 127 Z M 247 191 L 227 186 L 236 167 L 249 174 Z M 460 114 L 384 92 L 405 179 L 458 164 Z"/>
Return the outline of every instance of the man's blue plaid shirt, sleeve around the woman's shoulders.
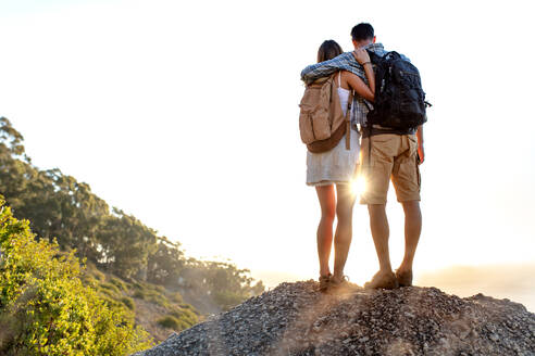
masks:
<path fill-rule="evenodd" d="M 365 47 L 376 53 L 380 56 L 386 54 L 386 51 L 382 43 L 372 43 Z M 318 78 L 326 77 L 338 71 L 348 71 L 352 74 L 359 76 L 368 85 L 368 78 L 357 60 L 354 59 L 352 52 L 341 53 L 340 55 L 325 62 L 320 62 L 316 64 L 309 65 L 301 72 L 301 80 L 306 84 L 310 84 Z M 366 115 L 370 111 L 369 107 L 373 107 L 372 103 L 359 96 L 354 96 L 352 111 L 353 111 L 353 125 L 359 124 L 365 126 Z"/>

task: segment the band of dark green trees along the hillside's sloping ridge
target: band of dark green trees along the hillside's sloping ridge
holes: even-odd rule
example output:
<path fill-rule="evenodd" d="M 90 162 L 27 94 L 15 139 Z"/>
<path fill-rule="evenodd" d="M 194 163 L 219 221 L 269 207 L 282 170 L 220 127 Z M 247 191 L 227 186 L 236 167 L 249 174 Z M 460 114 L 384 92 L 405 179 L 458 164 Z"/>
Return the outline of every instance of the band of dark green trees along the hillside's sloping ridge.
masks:
<path fill-rule="evenodd" d="M 262 282 L 253 284 L 247 269 L 227 263 L 188 259 L 178 242 L 159 237 L 133 215 L 115 207 L 110 209 L 105 201 L 91 192 L 89 185 L 57 168 L 37 168 L 26 155 L 23 141 L 11 123 L 0 117 L 0 192 L 15 217 L 32 221 L 32 230 L 40 239 L 55 239 L 62 252 L 74 251 L 78 258 L 107 275 L 170 290 L 196 290 L 223 309 L 263 292 Z M 107 280 L 102 272 L 95 270 L 87 282 L 95 283 L 110 305 L 125 305 L 121 298 L 126 287 L 120 279 Z M 163 289 L 145 285 L 134 296 L 169 307 L 162 293 Z"/>

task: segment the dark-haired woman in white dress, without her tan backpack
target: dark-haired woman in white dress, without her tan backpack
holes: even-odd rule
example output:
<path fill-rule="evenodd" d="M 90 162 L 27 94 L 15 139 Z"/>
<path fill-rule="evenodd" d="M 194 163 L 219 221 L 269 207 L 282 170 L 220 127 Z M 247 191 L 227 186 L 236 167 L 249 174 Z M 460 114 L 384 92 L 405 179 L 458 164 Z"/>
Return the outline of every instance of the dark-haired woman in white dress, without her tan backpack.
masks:
<path fill-rule="evenodd" d="M 328 61 L 341 54 L 341 48 L 334 40 L 322 43 L 318 51 L 318 62 Z M 351 90 L 369 101 L 373 101 L 375 81 L 370 56 L 365 50 L 353 52 L 356 60 L 364 66 L 368 86 L 357 75 L 340 71 L 336 74 L 338 97 L 344 115 L 347 111 L 347 101 Z M 349 245 L 352 236 L 352 209 L 354 195 L 351 193 L 351 179 L 359 161 L 359 132 L 351 113 L 351 142 L 350 150 L 346 149 L 346 140 L 341 139 L 331 151 L 323 153 L 307 152 L 307 185 L 315 187 L 322 216 L 318 226 L 318 255 L 320 257 L 320 290 L 326 291 L 329 287 L 338 287 L 346 281 L 344 266 L 346 265 Z M 335 187 L 336 186 L 336 193 Z M 334 274 L 331 274 L 328 258 L 333 244 L 333 224 L 335 216 L 338 219 L 334 234 L 335 260 Z"/>

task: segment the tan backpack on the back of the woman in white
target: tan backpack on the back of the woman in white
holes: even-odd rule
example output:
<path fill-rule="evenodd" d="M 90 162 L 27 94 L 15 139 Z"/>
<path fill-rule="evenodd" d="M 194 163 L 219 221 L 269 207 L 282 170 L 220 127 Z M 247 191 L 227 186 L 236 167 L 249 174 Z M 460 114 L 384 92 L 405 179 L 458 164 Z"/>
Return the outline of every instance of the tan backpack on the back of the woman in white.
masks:
<path fill-rule="evenodd" d="M 346 117 L 340 106 L 338 90 L 335 82 L 337 73 L 320 78 L 304 89 L 299 113 L 299 131 L 307 149 L 313 153 L 334 149 L 346 135 L 346 149 L 350 149 L 351 102 L 353 92 L 348 99 Z"/>

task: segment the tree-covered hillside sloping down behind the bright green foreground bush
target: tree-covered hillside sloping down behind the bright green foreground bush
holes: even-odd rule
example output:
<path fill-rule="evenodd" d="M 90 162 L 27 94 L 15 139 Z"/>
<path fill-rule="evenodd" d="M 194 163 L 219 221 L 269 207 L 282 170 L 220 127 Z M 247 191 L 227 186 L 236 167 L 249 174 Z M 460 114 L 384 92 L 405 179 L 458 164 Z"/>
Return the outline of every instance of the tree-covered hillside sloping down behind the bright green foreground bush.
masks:
<path fill-rule="evenodd" d="M 36 241 L 76 259 L 84 287 L 157 342 L 264 291 L 248 269 L 186 256 L 176 239 L 110 206 L 88 183 L 35 166 L 22 134 L 5 117 L 0 117 L 2 196 L 13 217 L 27 220 Z M 86 269 L 78 266 L 83 260 Z M 8 302 L 16 301 L 10 295 Z"/>

